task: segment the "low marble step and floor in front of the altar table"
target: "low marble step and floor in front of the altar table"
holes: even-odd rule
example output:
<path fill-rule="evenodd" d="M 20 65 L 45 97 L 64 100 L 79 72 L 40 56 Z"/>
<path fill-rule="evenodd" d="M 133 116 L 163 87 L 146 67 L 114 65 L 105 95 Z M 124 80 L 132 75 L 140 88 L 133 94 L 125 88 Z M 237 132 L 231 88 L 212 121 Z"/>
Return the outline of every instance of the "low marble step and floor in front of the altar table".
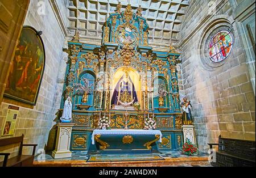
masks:
<path fill-rule="evenodd" d="M 112 155 L 100 155 L 94 154 L 92 156 L 102 157 L 104 156 L 106 162 L 89 162 L 87 152 L 73 152 L 71 158 L 53 159 L 50 154 L 39 155 L 35 157 L 34 166 L 210 166 L 208 162 L 208 155 L 199 154 L 194 156 L 187 156 L 181 154 L 180 151 L 161 151 L 158 154 L 152 154 L 159 156 L 162 159 L 158 160 L 141 160 L 142 154 L 112 154 Z M 151 156 L 152 156 L 151 155 Z M 122 159 L 118 160 L 118 157 Z M 131 159 L 125 159 L 133 158 Z M 138 160 L 136 160 L 138 157 Z"/>

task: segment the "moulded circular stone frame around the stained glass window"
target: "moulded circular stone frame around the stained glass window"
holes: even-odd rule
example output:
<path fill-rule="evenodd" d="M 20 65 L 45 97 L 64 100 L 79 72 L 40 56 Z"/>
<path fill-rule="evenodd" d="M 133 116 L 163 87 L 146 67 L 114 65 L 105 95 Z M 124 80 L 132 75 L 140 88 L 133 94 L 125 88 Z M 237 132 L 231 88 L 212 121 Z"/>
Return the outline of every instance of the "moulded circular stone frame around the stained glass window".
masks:
<path fill-rule="evenodd" d="M 230 36 L 233 38 L 232 48 L 236 48 L 236 37 L 234 35 L 234 27 L 232 26 L 234 20 L 226 15 L 218 15 L 212 19 L 204 28 L 201 33 L 201 38 L 199 41 L 198 53 L 200 56 L 201 66 L 205 70 L 214 71 L 220 69 L 221 66 L 229 60 L 232 60 L 232 55 L 228 55 L 225 60 L 220 62 L 213 62 L 209 57 L 209 43 L 212 40 L 212 37 L 220 31 L 229 32 Z M 230 52 L 232 54 L 232 52 Z"/>

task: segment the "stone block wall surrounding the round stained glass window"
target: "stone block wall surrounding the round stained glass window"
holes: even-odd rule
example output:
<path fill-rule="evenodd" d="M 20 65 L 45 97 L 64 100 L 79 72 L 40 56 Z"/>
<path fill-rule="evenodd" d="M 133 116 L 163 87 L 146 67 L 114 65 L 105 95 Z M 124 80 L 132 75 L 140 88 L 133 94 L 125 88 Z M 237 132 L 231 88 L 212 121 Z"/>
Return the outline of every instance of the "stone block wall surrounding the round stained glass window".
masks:
<path fill-rule="evenodd" d="M 229 1 L 190 1 L 180 33 L 180 92 L 191 100 L 197 143 L 205 152 L 207 143 L 217 142 L 219 135 L 255 140 L 255 95 L 232 13 Z M 234 45 L 223 65 L 209 70 L 201 60 L 200 39 L 218 19 L 232 24 Z"/>

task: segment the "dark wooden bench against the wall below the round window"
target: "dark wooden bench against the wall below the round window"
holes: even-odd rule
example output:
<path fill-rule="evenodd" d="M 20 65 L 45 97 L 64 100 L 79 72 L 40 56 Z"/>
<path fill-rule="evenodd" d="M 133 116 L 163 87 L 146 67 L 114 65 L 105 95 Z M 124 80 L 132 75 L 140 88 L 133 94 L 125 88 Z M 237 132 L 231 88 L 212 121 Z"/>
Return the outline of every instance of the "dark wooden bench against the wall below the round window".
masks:
<path fill-rule="evenodd" d="M 212 166 L 225 167 L 251 167 L 255 166 L 255 141 L 241 139 L 218 138 L 218 143 L 208 143 L 210 149 L 218 146 L 216 162 Z M 212 156 L 212 160 L 214 160 Z"/>

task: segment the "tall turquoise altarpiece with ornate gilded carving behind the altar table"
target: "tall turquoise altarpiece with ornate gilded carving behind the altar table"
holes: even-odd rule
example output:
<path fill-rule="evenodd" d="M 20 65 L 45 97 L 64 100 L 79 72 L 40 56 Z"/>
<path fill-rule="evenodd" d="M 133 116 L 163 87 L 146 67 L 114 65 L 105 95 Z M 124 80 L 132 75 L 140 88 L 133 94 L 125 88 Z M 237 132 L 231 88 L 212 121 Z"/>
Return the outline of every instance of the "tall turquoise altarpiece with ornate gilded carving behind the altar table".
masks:
<path fill-rule="evenodd" d="M 106 20 L 101 45 L 80 43 L 78 32 L 68 41 L 65 52 L 69 56 L 58 115 L 61 116 L 65 99 L 71 96 L 75 123 L 71 150 L 90 149 L 91 134 L 99 117 L 110 117 L 112 129 L 125 128 L 126 110 L 129 129 L 143 129 L 144 119 L 155 117 L 157 129 L 163 133 L 163 142 L 157 144 L 159 149 L 179 150 L 183 140 L 176 70 L 180 54 L 172 46 L 167 52 L 152 49 L 148 46 L 148 24 L 141 10 L 133 13 L 129 5 L 125 11 L 120 9 L 117 7 Z M 128 81 L 133 94 L 122 89 L 118 92 L 123 81 Z M 161 103 L 160 84 L 166 90 Z M 91 90 L 81 90 L 79 86 Z M 130 96 L 141 108 L 124 108 L 118 104 L 131 101 Z"/>

